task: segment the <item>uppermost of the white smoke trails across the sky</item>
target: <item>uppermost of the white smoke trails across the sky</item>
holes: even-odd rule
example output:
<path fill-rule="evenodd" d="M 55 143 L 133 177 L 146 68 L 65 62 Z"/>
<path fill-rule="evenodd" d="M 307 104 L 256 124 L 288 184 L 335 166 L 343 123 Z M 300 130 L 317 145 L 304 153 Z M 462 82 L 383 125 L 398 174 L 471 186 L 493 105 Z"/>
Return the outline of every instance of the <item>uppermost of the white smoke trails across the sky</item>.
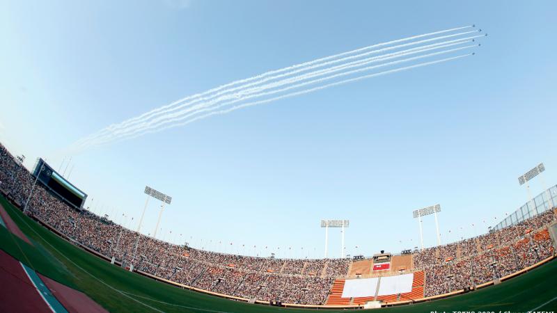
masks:
<path fill-rule="evenodd" d="M 219 87 L 213 88 L 213 89 L 211 89 L 211 90 L 207 90 L 207 91 L 205 91 L 204 93 L 198 93 L 198 94 L 196 94 L 196 95 L 191 95 L 191 96 L 189 96 L 189 97 L 182 98 L 182 99 L 180 99 L 180 100 L 178 100 L 178 101 L 176 101 L 176 102 L 173 102 L 173 103 L 171 103 L 171 104 L 168 104 L 168 105 L 165 105 L 165 106 L 161 106 L 161 107 L 159 107 L 159 108 L 157 108 L 157 109 L 154 109 L 154 110 L 151 110 L 151 111 L 149 111 L 149 112 L 147 112 L 147 113 L 143 113 L 142 115 L 139 115 L 139 116 L 137 116 L 137 117 L 135 117 L 135 118 L 130 118 L 130 119 L 128 119 L 128 120 L 125 120 L 124 122 L 120 122 L 120 123 L 118 123 L 118 124 L 109 125 L 109 127 L 105 127 L 104 129 L 98 131 L 98 132 L 95 133 L 95 134 L 92 134 L 91 136 L 88 136 L 88 137 L 86 137 L 86 138 L 80 139 L 79 141 L 77 141 L 77 143 L 80 143 L 81 141 L 86 141 L 86 140 L 88 140 L 88 139 L 93 139 L 93 138 L 95 138 L 95 137 L 97 137 L 97 136 L 102 136 L 102 135 L 104 135 L 105 133 L 107 133 L 107 132 L 109 132 L 109 131 L 113 131 L 113 130 L 116 130 L 116 129 L 122 129 L 122 128 L 124 128 L 124 127 L 127 127 L 127 126 L 130 125 L 130 124 L 133 124 L 134 122 L 137 122 L 137 121 L 140 121 L 140 120 L 145 120 L 145 119 L 151 118 L 152 115 L 161 114 L 162 111 L 165 111 L 165 110 L 167 110 L 167 109 L 171 109 L 173 106 L 178 105 L 178 104 L 180 104 L 180 103 L 186 101 L 187 99 L 195 99 L 195 98 L 197 98 L 197 97 L 201 97 L 202 95 L 208 95 L 208 94 L 214 93 L 215 91 L 222 90 L 223 88 L 226 88 L 226 87 L 229 87 L 229 86 L 234 86 L 234 85 L 237 85 L 237 84 L 239 84 L 239 83 L 244 83 L 244 82 L 246 82 L 246 81 L 253 81 L 253 80 L 256 80 L 256 79 L 260 79 L 260 78 L 262 78 L 262 77 L 267 77 L 267 79 L 265 79 L 264 81 L 268 81 L 268 80 L 270 80 L 270 79 L 276 79 L 276 77 L 270 77 L 270 78 L 269 78 L 269 77 L 268 77 L 269 75 L 276 74 L 276 73 L 279 73 L 279 72 L 285 72 L 285 71 L 292 70 L 292 69 L 299 68 L 299 67 L 302 67 L 302 68 L 299 69 L 299 70 L 296 70 L 295 72 L 303 72 L 303 71 L 305 71 L 305 70 L 309 70 L 309 68 L 304 68 L 304 66 L 305 66 L 305 67 L 308 67 L 308 65 L 313 65 L 313 64 L 316 64 L 316 63 L 317 63 L 317 65 L 313 65 L 311 68 L 320 67 L 320 66 L 323 66 L 323 65 L 319 65 L 318 63 L 320 63 L 320 62 L 322 62 L 322 61 L 327 61 L 327 60 L 330 60 L 330 59 L 338 58 L 338 57 L 340 57 L 340 56 L 345 56 L 345 55 L 349 55 L 349 54 L 354 54 L 354 53 L 356 53 L 356 52 L 365 51 L 365 50 L 368 50 L 368 49 L 372 49 L 372 48 L 374 48 L 374 47 L 382 47 L 382 46 L 385 46 L 385 45 L 392 45 L 393 43 L 397 43 L 397 42 L 405 42 L 405 41 L 414 40 L 414 39 L 417 39 L 417 38 L 423 38 L 423 37 L 427 37 L 427 36 L 430 36 L 430 35 L 437 35 L 437 34 L 439 34 L 439 33 L 447 33 L 447 32 L 450 32 L 450 31 L 457 31 L 457 30 L 460 30 L 460 29 L 466 29 L 466 28 L 470 28 L 470 27 L 473 27 L 473 26 L 463 26 L 463 27 L 458 27 L 458 28 L 455 28 L 455 29 L 446 29 L 446 30 L 444 30 L 444 31 L 436 31 L 436 32 L 433 32 L 433 33 L 426 33 L 426 34 L 423 34 L 423 35 L 415 35 L 415 36 L 411 36 L 411 37 L 408 37 L 408 38 L 402 38 L 402 39 L 399 39 L 399 40 L 391 40 L 391 41 L 389 41 L 389 42 L 383 42 L 383 43 L 380 43 L 380 44 L 377 44 L 377 45 L 371 45 L 371 46 L 368 46 L 368 47 L 363 47 L 363 48 L 360 48 L 360 49 L 355 49 L 355 50 L 352 50 L 352 51 L 347 51 L 347 52 L 344 52 L 344 53 L 341 53 L 341 54 L 336 54 L 336 55 L 334 55 L 334 56 L 327 56 L 327 57 L 324 57 L 324 58 L 319 58 L 319 59 L 314 60 L 314 61 L 309 61 L 309 62 L 306 62 L 306 63 L 300 63 L 300 64 L 298 64 L 298 65 L 292 65 L 292 66 L 290 66 L 290 67 L 284 67 L 283 69 L 280 69 L 280 70 L 273 70 L 273 71 L 265 72 L 265 73 L 263 73 L 263 74 L 257 75 L 256 77 L 250 77 L 250 78 L 248 78 L 248 79 L 242 79 L 242 80 L 240 80 L 240 81 L 234 81 L 234 82 L 232 82 L 232 83 L 228 83 L 228 84 L 226 84 L 226 85 L 219 86 Z M 404 47 L 404 46 L 408 46 L 408 45 L 416 45 L 416 44 L 421 43 L 421 42 L 430 42 L 430 41 L 433 41 L 433 40 L 440 40 L 440 39 L 442 39 L 442 38 L 450 38 L 450 37 L 455 37 L 455 36 L 457 36 L 457 35 L 463 35 L 463 34 L 466 34 L 466 33 L 474 33 L 474 32 L 476 32 L 476 31 L 468 31 L 468 32 L 464 32 L 464 33 L 457 33 L 457 34 L 451 34 L 451 35 L 441 36 L 441 37 L 438 37 L 438 38 L 430 38 L 430 39 L 427 39 L 427 40 L 421 40 L 421 41 L 418 41 L 418 42 L 412 42 L 412 43 L 409 43 L 409 44 L 406 44 L 406 45 L 399 45 L 398 47 L 400 48 L 400 47 Z M 387 49 L 395 49 L 395 47 L 389 47 L 389 48 L 387 48 Z M 385 50 L 385 49 L 382 49 L 382 50 Z M 377 53 L 377 52 L 378 52 L 378 51 L 375 51 L 375 52 L 374 52 L 374 51 L 368 51 L 366 54 Z M 363 55 L 366 55 L 366 54 L 363 54 Z M 353 56 L 352 58 L 356 58 L 356 57 L 358 57 L 358 56 Z M 343 59 L 343 60 L 344 60 L 344 59 Z M 337 63 L 337 62 L 340 62 L 340 61 L 333 61 L 333 62 L 329 62 L 329 63 Z M 290 74 L 294 74 L 294 73 L 290 73 Z M 288 73 L 287 73 L 287 74 L 281 74 L 281 76 L 285 76 L 285 75 L 288 75 Z M 260 82 L 256 82 L 256 83 L 261 83 L 261 81 L 260 81 Z M 249 85 L 253 86 L 253 85 L 256 84 L 256 83 L 251 83 L 251 84 L 249 84 Z M 240 88 L 244 88 L 244 87 L 245 87 L 245 86 L 240 86 Z M 237 90 L 237 89 L 239 89 L 239 88 L 233 88 L 233 89 L 234 89 L 234 90 Z M 219 94 L 228 93 L 228 92 L 230 92 L 230 90 L 225 90 L 225 91 L 223 91 L 223 92 L 221 92 L 221 93 L 219 93 Z"/>

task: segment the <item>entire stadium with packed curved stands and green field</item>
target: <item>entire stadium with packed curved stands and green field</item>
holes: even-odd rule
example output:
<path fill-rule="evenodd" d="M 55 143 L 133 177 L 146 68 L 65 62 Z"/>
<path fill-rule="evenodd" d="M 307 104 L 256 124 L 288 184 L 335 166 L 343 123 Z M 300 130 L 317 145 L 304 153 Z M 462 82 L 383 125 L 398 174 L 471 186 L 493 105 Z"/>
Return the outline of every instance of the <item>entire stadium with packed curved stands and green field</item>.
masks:
<path fill-rule="evenodd" d="M 38 163 L 36 173 L 44 168 L 44 163 Z M 401 307 L 401 312 L 424 312 L 430 310 L 427 308 L 430 301 L 448 297 L 444 305 L 462 305 L 466 310 L 474 310 L 477 305 L 474 301 L 478 301 L 481 294 L 489 296 L 492 292 L 501 292 L 510 295 L 505 298 L 512 298 L 516 289 L 531 292 L 530 300 L 514 297 L 514 300 L 505 303 L 505 307 L 510 307 L 510 310 L 527 310 L 534 305 L 538 307 L 528 312 L 543 307 L 551 308 L 557 300 L 556 297 L 549 298 L 544 303 L 548 296 L 555 294 L 556 287 L 552 280 L 545 280 L 546 285 L 536 282 L 533 289 L 527 285 L 528 280 L 535 279 L 535 275 L 543 277 L 554 275 L 557 271 L 557 263 L 551 262 L 555 257 L 557 242 L 557 186 L 536 197 L 532 210 L 526 204 L 525 215 L 519 219 L 515 217 L 514 223 L 511 217 L 510 225 L 505 221 L 505 227 L 500 230 L 464 241 L 414 252 L 406 251 L 401 255 L 382 251 L 369 259 L 363 256 L 354 257 L 353 260 L 275 259 L 197 250 L 142 236 L 101 216 L 71 206 L 54 189 L 35 189 L 33 182 L 39 180 L 39 175 L 33 177 L 19 166 L 17 159 L 4 147 L 1 150 L 0 174 L 3 194 L 1 248 L 5 251 L 2 255 L 2 267 L 5 270 L 3 281 L 14 280 L 10 278 L 10 273 L 6 273 L 6 269 L 13 268 L 15 260 L 19 260 L 24 271 L 40 274 L 39 280 L 51 289 L 45 292 L 56 298 L 58 301 L 54 302 L 58 307 L 61 306 L 56 309 L 54 305 L 55 312 L 65 312 L 64 307 L 77 311 L 93 308 L 101 310 L 95 307 L 95 303 L 91 307 L 80 307 L 71 300 L 68 303 L 68 299 L 75 301 L 77 297 L 59 291 L 76 284 L 74 279 L 67 276 L 72 272 L 68 273 L 68 268 L 72 267 L 77 272 L 74 278 L 80 274 L 85 276 L 84 281 L 97 280 L 96 284 L 105 285 L 100 289 L 95 287 L 93 291 L 93 284 L 88 282 L 82 290 L 85 294 L 94 295 L 94 298 L 98 297 L 97 302 L 106 305 L 110 311 L 122 308 L 120 301 L 124 300 L 123 297 L 136 302 L 133 304 L 134 311 L 146 312 L 163 308 L 166 312 L 167 306 L 174 306 L 178 310 L 214 310 L 219 305 L 226 307 L 226 310 L 211 312 L 270 310 L 267 307 L 251 306 L 256 304 L 327 310 L 411 305 L 408 308 Z M 26 200 L 26 194 L 31 191 L 35 194 Z M 522 212 L 523 208 L 519 211 Z M 104 273 L 105 278 L 99 277 L 100 272 Z M 126 272 L 143 277 L 134 277 Z M 517 276 L 519 278 L 515 278 Z M 113 284 L 116 278 L 119 284 L 126 287 L 124 289 L 131 291 L 115 289 Z M 152 282 L 141 281 L 144 278 Z M 83 284 L 84 281 L 77 284 Z M 175 290 L 154 298 L 155 289 L 160 288 L 157 282 Z M 29 292 L 33 288 L 27 283 Z M 33 284 L 36 287 L 36 282 Z M 141 289 L 152 288 L 145 290 L 149 296 L 141 296 L 139 290 L 132 287 L 139 287 L 138 284 L 141 284 Z M 3 284 L 3 288 L 6 288 L 3 291 L 6 295 L 12 287 L 11 284 Z M 473 293 L 468 295 L 471 291 Z M 160 292 L 163 292 L 162 289 Z M 196 303 L 194 298 L 198 298 L 204 305 L 189 307 L 174 303 L 171 294 L 176 292 L 183 293 L 180 297 L 185 303 Z M 111 302 L 113 296 L 119 298 L 118 302 Z M 3 305 L 10 311 L 19 310 L 19 300 L 16 303 L 13 300 L 16 299 L 6 299 Z M 38 303 L 32 305 L 40 307 L 40 300 L 36 301 Z M 223 301 L 236 301 L 237 304 L 224 304 Z M 158 305 L 162 305 L 162 308 L 157 308 Z M 443 306 L 437 301 L 434 305 Z M 492 303 L 493 307 L 497 305 L 500 304 Z M 125 307 L 130 309 L 127 305 Z M 494 309 L 487 307 L 482 310 Z"/>

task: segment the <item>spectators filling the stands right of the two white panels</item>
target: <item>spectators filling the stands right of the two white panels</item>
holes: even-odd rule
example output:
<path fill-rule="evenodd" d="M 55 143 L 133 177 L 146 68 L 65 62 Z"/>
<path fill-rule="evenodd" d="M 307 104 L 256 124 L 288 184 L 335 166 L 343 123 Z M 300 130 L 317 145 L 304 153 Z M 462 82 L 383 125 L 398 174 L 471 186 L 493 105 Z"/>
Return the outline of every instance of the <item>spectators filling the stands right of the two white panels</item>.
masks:
<path fill-rule="evenodd" d="M 414 266 L 425 270 L 425 296 L 474 287 L 547 259 L 554 254 L 547 226 L 555 218 L 547 210 L 496 232 L 416 252 Z"/>

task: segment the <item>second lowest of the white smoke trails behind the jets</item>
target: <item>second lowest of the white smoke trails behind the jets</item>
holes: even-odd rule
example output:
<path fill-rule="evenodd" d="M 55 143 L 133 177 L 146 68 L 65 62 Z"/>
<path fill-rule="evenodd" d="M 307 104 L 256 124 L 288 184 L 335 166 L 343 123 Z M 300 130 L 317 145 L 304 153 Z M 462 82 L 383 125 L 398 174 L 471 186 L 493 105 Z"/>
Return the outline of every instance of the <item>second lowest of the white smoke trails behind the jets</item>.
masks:
<path fill-rule="evenodd" d="M 327 81 L 327 80 L 330 80 L 330 79 L 335 79 L 335 78 L 338 78 L 338 77 L 343 77 L 343 76 L 346 76 L 346 75 L 355 74 L 355 73 L 359 73 L 359 72 L 366 72 L 366 71 L 369 71 L 369 70 L 373 70 L 373 69 L 375 69 L 375 68 L 377 68 L 377 67 L 384 67 L 384 66 L 396 65 L 396 64 L 400 64 L 400 63 L 409 62 L 409 61 L 416 61 L 416 60 L 421 59 L 421 58 L 428 58 L 428 57 L 431 57 L 431 56 L 437 56 L 437 55 L 439 55 L 439 54 L 446 54 L 446 53 L 450 53 L 450 52 L 454 52 L 454 51 L 459 51 L 459 50 L 462 50 L 462 49 L 469 49 L 469 48 L 471 48 L 471 47 L 476 47 L 476 46 L 477 46 L 477 45 L 470 45 L 470 46 L 460 47 L 460 48 L 456 48 L 456 49 L 449 49 L 449 50 L 434 52 L 434 53 L 432 53 L 432 54 L 425 54 L 425 55 L 422 55 L 422 56 L 416 56 L 416 57 L 412 57 L 412 58 L 405 58 L 405 59 L 402 59 L 402 60 L 399 60 L 399 61 L 393 61 L 393 62 L 389 62 L 389 63 L 382 63 L 382 64 L 379 64 L 379 65 L 374 65 L 374 66 L 370 66 L 370 67 L 363 67 L 363 68 L 358 69 L 358 70 L 352 70 L 352 71 L 348 71 L 348 72 L 341 72 L 341 73 L 338 73 L 338 74 L 331 75 L 331 76 L 329 76 L 329 77 L 323 77 L 323 78 L 320 78 L 320 79 L 313 79 L 312 81 L 306 81 L 306 82 L 303 82 L 303 83 L 298 83 L 298 84 L 295 84 L 295 85 L 290 85 L 290 86 L 287 86 L 287 87 L 285 87 L 285 88 L 281 88 L 281 89 L 278 89 L 278 90 L 272 90 L 272 91 L 265 92 L 265 93 L 259 93 L 259 94 L 253 95 L 253 96 L 251 96 L 251 97 L 246 97 L 245 99 L 251 99 L 251 98 L 253 98 L 253 97 L 262 97 L 262 96 L 266 96 L 266 95 L 273 95 L 273 94 L 276 94 L 276 93 L 282 93 L 282 92 L 284 92 L 284 91 L 291 90 L 291 89 L 295 89 L 295 88 L 301 88 L 301 87 L 307 86 L 307 85 L 309 85 L 309 84 L 320 83 L 320 82 L 322 82 L 322 81 Z M 451 60 L 451 58 L 447 58 L 447 60 Z M 429 63 L 428 63 L 428 64 L 429 64 Z M 413 67 L 410 66 L 410 67 L 408 67 L 408 68 L 413 68 Z M 386 71 L 386 72 L 389 72 L 389 71 Z M 374 74 L 371 74 L 371 75 L 374 75 Z M 352 81 L 352 80 L 351 80 L 351 79 L 347 79 L 347 80 L 345 80 L 345 81 L 346 81 L 346 82 L 349 82 L 349 81 Z M 337 85 L 337 83 L 329 83 L 329 84 L 327 84 L 327 85 L 325 85 L 325 86 L 336 86 L 336 85 Z M 313 91 L 313 90 L 320 90 L 320 89 L 322 89 L 322 88 L 317 87 L 317 88 L 311 88 L 310 90 Z M 299 93 L 303 93 L 303 92 L 304 92 L 304 90 L 301 90 L 301 91 L 299 91 L 299 92 L 292 93 L 292 94 L 293 94 L 293 95 L 298 95 Z M 311 91 L 310 91 L 310 92 L 311 92 Z M 289 94 L 289 95 L 290 95 L 290 94 Z M 289 97 L 290 97 L 290 96 L 289 96 Z M 277 98 L 277 99 L 282 99 L 281 97 L 276 97 L 276 98 Z M 111 137 L 111 138 L 104 138 L 104 139 L 101 138 L 101 140 L 99 140 L 99 141 L 93 141 L 93 142 L 91 143 L 91 146 L 93 146 L 93 145 L 100 145 L 100 144 L 104 144 L 104 143 L 108 143 L 108 142 L 110 142 L 110 141 L 117 140 L 119 137 L 128 138 L 128 137 L 130 137 L 130 136 L 133 136 L 133 138 L 135 138 L 134 134 L 143 134 L 142 131 L 144 131 L 144 130 L 146 130 L 146 129 L 157 129 L 157 128 L 159 128 L 159 127 L 161 127 L 161 126 L 164 126 L 164 125 L 166 125 L 166 124 L 168 124 L 168 123 L 180 122 L 181 120 L 185 120 L 185 119 L 187 119 L 187 118 L 191 118 L 191 116 L 193 116 L 193 115 L 196 115 L 196 114 L 199 114 L 199 113 L 203 113 L 203 112 L 206 112 L 206 111 L 212 111 L 212 110 L 214 110 L 214 109 L 219 109 L 219 108 L 221 108 L 222 106 L 227 106 L 227 105 L 230 105 L 230 104 L 235 104 L 235 103 L 241 102 L 241 101 L 243 101 L 243 100 L 245 100 L 245 99 L 237 99 L 237 100 L 233 100 L 233 101 L 230 101 L 230 102 L 224 102 L 223 104 L 219 104 L 219 105 L 213 106 L 213 107 L 210 107 L 210 106 L 209 106 L 209 107 L 205 107 L 205 108 L 199 107 L 199 108 L 197 108 L 195 111 L 189 111 L 190 113 L 185 114 L 185 115 L 184 115 L 184 113 L 173 113 L 171 116 L 168 116 L 168 117 L 166 118 L 166 120 L 164 120 L 163 122 L 159 122 L 158 124 L 150 124 L 150 125 L 147 125 L 146 127 L 143 127 L 142 129 L 136 129 L 135 131 L 132 131 L 132 132 L 128 132 L 128 133 L 125 133 L 125 134 L 120 134 L 120 136 L 118 136 L 118 137 Z M 275 98 L 272 98 L 272 99 L 275 99 Z M 261 100 L 261 101 L 264 101 L 264 102 L 265 102 L 266 100 Z M 258 103 L 259 103 L 259 102 L 258 102 Z M 162 129 L 166 129 L 166 127 L 163 127 Z"/>

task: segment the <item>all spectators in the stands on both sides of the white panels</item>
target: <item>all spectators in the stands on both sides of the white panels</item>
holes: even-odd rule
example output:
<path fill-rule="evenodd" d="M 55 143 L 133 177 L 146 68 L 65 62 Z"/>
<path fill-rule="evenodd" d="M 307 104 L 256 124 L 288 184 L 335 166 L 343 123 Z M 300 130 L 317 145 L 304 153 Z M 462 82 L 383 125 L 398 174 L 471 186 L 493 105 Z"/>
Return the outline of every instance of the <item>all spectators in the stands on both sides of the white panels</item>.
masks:
<path fill-rule="evenodd" d="M 22 206 L 34 182 L 1 145 L 0 182 L 0 188 Z M 40 183 L 27 214 L 82 246 L 150 275 L 243 298 L 324 304 L 334 279 L 345 277 L 351 263 L 247 257 L 178 246 L 70 207 Z M 549 257 L 554 248 L 547 225 L 554 219 L 548 210 L 503 230 L 414 252 L 414 268 L 425 271 L 425 296 L 489 282 Z"/>

